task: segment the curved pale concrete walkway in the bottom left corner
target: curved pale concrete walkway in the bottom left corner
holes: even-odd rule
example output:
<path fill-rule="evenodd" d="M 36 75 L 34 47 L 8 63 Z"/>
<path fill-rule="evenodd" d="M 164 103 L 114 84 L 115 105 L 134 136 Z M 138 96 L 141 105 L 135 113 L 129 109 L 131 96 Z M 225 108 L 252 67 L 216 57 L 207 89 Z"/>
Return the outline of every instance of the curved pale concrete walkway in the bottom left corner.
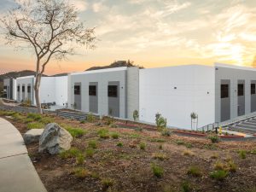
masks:
<path fill-rule="evenodd" d="M 38 177 L 20 132 L 0 118 L 0 191 L 47 192 Z"/>

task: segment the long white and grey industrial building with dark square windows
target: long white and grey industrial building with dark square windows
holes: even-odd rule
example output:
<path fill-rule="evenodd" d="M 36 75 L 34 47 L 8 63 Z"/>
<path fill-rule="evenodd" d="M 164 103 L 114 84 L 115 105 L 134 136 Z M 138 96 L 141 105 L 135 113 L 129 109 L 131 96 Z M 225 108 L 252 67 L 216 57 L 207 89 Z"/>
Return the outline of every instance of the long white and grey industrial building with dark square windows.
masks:
<path fill-rule="evenodd" d="M 7 86 L 10 81 L 6 82 Z M 13 80 L 15 100 L 28 96 L 33 82 L 33 77 Z M 151 124 L 160 113 L 167 125 L 190 129 L 193 112 L 198 115 L 198 127 L 254 113 L 255 85 L 256 69 L 252 67 L 218 63 L 148 69 L 116 67 L 42 78 L 40 96 L 42 102 L 59 106 L 67 102 L 69 108 L 122 119 L 132 119 L 133 111 L 138 110 L 140 121 Z M 20 93 L 15 93 L 19 89 Z"/>

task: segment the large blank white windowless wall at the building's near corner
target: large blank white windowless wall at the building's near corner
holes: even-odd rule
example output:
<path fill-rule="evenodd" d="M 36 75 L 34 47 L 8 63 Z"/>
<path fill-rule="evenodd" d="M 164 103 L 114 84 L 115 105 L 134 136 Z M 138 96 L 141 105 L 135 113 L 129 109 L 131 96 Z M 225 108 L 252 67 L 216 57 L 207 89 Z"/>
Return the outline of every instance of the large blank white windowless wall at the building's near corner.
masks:
<path fill-rule="evenodd" d="M 140 120 L 155 123 L 161 113 L 167 125 L 191 129 L 190 113 L 199 116 L 198 127 L 214 123 L 214 67 L 179 66 L 141 69 Z"/>

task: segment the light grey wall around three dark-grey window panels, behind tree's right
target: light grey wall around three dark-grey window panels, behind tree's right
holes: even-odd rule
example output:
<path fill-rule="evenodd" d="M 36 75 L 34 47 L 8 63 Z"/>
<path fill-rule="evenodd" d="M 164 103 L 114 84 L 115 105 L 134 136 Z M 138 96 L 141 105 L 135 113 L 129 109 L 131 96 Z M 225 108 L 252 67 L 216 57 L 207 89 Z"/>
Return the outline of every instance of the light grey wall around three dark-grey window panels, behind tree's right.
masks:
<path fill-rule="evenodd" d="M 90 83 L 97 83 L 98 114 L 108 115 L 108 82 L 119 82 L 119 117 L 126 117 L 126 70 L 127 67 L 102 69 L 69 75 L 68 96 L 69 107 L 74 103 L 74 84 L 81 83 L 81 110 L 90 112 Z"/>

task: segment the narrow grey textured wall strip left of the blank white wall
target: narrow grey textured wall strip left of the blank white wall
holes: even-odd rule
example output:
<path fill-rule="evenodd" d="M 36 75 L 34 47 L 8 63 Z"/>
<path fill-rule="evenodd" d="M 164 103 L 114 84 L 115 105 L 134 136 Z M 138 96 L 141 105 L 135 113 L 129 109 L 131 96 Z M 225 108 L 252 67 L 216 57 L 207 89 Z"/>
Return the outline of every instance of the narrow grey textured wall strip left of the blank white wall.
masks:
<path fill-rule="evenodd" d="M 127 118 L 133 119 L 133 112 L 139 111 L 139 68 L 127 68 Z"/>

